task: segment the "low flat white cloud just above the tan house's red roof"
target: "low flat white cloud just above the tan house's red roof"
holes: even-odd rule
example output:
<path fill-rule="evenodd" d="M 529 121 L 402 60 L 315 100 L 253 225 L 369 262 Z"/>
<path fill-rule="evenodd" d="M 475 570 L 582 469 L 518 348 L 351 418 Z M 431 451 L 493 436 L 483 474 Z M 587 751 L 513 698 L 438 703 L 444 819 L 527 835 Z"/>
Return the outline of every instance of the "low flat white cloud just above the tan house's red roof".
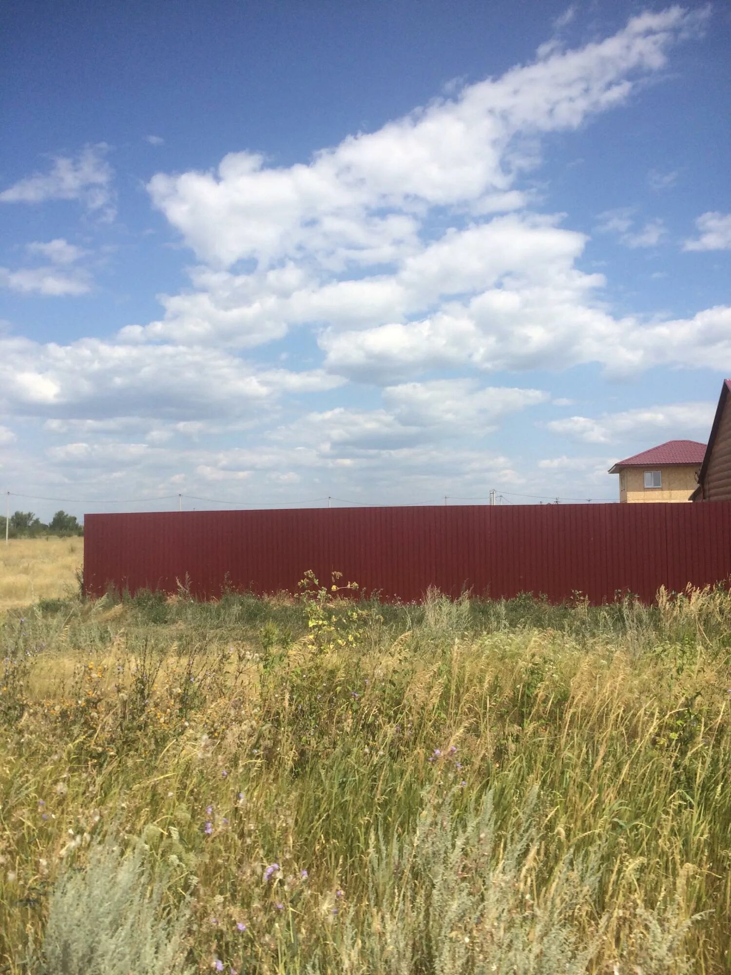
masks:
<path fill-rule="evenodd" d="M 714 411 L 714 403 L 677 403 L 604 413 L 597 418 L 569 416 L 551 420 L 546 426 L 553 433 L 564 434 L 585 444 L 651 440 L 655 436 L 677 440 L 691 433 L 705 441 Z M 653 446 L 651 443 L 647 445 L 648 448 Z"/>

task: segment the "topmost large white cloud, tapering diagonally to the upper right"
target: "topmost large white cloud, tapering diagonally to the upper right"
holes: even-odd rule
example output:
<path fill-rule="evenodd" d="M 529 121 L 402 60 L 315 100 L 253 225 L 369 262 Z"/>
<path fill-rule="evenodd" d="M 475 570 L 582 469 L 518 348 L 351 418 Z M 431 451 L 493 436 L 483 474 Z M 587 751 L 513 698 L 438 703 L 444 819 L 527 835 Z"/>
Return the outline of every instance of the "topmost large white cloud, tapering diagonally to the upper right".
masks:
<path fill-rule="evenodd" d="M 538 162 L 526 137 L 576 129 L 625 102 L 701 17 L 679 7 L 641 14 L 612 37 L 466 86 L 309 164 L 275 168 L 256 153 L 232 153 L 215 173 L 153 176 L 149 192 L 196 254 L 222 267 L 304 254 L 380 262 L 412 246 L 404 216 L 479 207 L 514 189 Z"/>

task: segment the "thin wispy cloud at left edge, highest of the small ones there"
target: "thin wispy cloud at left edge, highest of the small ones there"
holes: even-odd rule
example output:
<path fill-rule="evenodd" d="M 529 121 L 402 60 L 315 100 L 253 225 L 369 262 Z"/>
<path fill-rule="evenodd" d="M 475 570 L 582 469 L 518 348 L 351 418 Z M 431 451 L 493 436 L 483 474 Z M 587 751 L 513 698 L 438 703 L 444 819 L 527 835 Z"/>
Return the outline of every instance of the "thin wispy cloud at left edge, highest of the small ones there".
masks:
<path fill-rule="evenodd" d="M 46 200 L 78 200 L 102 219 L 113 219 L 113 171 L 106 160 L 105 142 L 87 145 L 76 157 L 53 156 L 48 173 L 25 176 L 0 193 L 3 203 L 43 203 Z"/>

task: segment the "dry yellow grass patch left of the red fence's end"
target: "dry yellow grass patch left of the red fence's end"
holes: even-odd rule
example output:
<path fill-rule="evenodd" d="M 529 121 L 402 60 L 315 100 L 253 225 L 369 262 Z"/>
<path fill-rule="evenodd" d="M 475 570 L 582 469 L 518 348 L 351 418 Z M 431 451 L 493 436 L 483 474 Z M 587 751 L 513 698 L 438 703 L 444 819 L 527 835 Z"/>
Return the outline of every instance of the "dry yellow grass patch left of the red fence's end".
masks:
<path fill-rule="evenodd" d="M 0 612 L 67 595 L 84 559 L 83 538 L 11 538 L 0 541 Z"/>

